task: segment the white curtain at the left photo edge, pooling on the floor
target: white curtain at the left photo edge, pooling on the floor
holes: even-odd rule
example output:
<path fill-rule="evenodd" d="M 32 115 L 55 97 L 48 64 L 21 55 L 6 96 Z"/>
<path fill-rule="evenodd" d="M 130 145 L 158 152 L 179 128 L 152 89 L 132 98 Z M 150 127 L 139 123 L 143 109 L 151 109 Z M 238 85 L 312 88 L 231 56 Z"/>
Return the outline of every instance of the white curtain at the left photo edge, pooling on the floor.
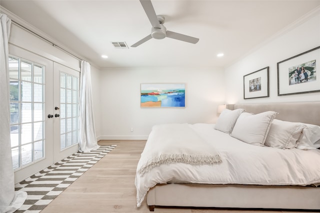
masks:
<path fill-rule="evenodd" d="M 0 212 L 14 212 L 21 207 L 27 193 L 14 191 L 14 173 L 12 167 L 10 141 L 10 90 L 8 65 L 8 39 L 11 20 L 0 13 Z"/>

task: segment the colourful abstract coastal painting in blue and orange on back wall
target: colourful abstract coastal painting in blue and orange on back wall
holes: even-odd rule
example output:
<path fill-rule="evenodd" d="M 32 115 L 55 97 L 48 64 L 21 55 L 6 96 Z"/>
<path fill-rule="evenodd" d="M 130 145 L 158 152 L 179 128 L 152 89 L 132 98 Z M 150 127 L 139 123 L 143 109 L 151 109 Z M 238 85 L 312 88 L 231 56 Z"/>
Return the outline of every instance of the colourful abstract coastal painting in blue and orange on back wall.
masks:
<path fill-rule="evenodd" d="M 141 83 L 141 107 L 185 107 L 184 83 Z"/>

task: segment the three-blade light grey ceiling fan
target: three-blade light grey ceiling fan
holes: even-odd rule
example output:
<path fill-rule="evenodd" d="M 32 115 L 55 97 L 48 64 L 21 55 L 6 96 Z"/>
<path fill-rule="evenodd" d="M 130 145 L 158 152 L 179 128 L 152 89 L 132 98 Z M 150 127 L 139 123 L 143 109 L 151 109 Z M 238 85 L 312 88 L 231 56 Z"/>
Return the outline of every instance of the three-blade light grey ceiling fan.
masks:
<path fill-rule="evenodd" d="M 152 25 L 151 34 L 142 38 L 138 42 L 132 44 L 131 47 L 136 47 L 151 38 L 163 39 L 165 37 L 170 37 L 177 40 L 186 41 L 189 43 L 198 42 L 199 38 L 166 30 L 166 28 L 163 26 L 164 16 L 155 14 L 151 0 L 140 0 L 140 3 L 142 4 L 143 9 L 151 22 L 151 25 Z"/>

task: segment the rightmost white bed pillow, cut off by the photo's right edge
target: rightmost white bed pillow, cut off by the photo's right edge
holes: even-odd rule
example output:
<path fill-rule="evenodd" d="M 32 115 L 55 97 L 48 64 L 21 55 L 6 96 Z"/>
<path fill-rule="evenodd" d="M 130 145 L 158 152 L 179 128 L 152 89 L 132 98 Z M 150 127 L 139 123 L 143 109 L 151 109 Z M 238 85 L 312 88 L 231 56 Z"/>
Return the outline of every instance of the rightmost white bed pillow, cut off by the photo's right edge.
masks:
<path fill-rule="evenodd" d="M 303 123 L 307 126 L 302 131 L 302 136 L 298 140 L 296 148 L 316 149 L 320 147 L 320 126 L 309 123 Z"/>

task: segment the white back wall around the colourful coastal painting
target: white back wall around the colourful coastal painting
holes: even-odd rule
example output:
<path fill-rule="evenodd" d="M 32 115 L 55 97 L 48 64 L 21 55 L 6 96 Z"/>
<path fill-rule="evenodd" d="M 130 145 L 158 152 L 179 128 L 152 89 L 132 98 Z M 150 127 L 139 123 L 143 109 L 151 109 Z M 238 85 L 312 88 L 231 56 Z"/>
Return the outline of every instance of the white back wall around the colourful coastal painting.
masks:
<path fill-rule="evenodd" d="M 140 83 L 185 83 L 185 108 L 141 108 Z M 152 125 L 209 122 L 224 103 L 222 68 L 135 68 L 100 71 L 98 139 L 146 139 Z M 133 132 L 130 132 L 130 128 Z"/>

